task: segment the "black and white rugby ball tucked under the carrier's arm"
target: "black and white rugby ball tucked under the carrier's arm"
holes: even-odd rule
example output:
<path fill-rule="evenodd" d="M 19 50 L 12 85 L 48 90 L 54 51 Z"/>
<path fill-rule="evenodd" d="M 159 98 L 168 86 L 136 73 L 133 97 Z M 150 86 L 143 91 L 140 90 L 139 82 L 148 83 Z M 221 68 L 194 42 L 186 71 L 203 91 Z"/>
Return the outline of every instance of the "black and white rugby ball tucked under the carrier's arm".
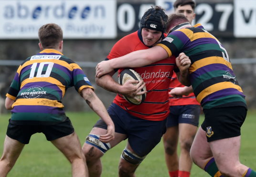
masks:
<path fill-rule="evenodd" d="M 135 70 L 133 69 L 124 69 L 120 75 L 119 75 L 119 84 L 123 85 L 126 81 L 128 80 L 142 80 L 142 78 L 140 77 L 139 73 L 137 73 Z M 135 83 L 136 85 L 137 83 Z M 141 91 L 146 90 L 146 87 L 144 86 Z M 139 105 L 141 104 L 145 98 L 146 98 L 146 93 L 143 95 L 137 95 L 135 96 L 135 98 L 140 99 L 140 101 L 137 101 L 134 98 L 130 98 L 130 97 L 125 97 L 123 96 L 129 103 L 135 104 L 135 105 Z"/>

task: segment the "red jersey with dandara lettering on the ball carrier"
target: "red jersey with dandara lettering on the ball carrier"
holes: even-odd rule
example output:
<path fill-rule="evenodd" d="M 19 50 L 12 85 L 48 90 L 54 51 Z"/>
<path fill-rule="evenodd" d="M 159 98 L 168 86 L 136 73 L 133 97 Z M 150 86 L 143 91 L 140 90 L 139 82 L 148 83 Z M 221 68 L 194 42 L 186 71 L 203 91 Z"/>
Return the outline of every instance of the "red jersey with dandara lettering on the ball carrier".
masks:
<path fill-rule="evenodd" d="M 139 32 L 131 33 L 120 39 L 112 48 L 107 59 L 121 57 L 130 52 L 149 49 L 139 38 Z M 147 96 L 140 105 L 129 103 L 122 95 L 117 94 L 114 103 L 128 111 L 131 115 L 147 120 L 160 121 L 169 114 L 168 88 L 173 69 L 176 68 L 175 58 L 163 59 L 150 65 L 133 68 L 146 83 Z M 119 69 L 118 72 L 123 69 Z"/>

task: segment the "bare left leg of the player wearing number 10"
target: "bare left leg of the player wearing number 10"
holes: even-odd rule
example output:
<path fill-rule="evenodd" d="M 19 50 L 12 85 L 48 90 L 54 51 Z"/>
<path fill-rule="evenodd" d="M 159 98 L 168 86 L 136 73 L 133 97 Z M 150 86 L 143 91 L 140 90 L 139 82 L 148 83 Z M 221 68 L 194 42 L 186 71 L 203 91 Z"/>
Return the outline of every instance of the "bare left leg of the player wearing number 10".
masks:
<path fill-rule="evenodd" d="M 21 154 L 25 144 L 12 139 L 8 136 L 5 137 L 3 146 L 3 155 L 0 158 L 0 177 L 6 177 L 11 168 L 14 166 L 16 160 Z"/>

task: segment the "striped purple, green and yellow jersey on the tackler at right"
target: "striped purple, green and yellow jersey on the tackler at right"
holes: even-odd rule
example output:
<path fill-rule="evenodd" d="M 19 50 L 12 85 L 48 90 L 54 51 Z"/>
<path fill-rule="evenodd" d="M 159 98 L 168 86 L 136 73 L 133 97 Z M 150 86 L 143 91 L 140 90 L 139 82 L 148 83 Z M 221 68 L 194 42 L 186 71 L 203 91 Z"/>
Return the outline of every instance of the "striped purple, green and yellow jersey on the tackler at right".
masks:
<path fill-rule="evenodd" d="M 203 108 L 246 107 L 245 95 L 223 45 L 202 26 L 171 32 L 159 44 L 169 57 L 184 52 L 191 59 L 190 81 Z"/>

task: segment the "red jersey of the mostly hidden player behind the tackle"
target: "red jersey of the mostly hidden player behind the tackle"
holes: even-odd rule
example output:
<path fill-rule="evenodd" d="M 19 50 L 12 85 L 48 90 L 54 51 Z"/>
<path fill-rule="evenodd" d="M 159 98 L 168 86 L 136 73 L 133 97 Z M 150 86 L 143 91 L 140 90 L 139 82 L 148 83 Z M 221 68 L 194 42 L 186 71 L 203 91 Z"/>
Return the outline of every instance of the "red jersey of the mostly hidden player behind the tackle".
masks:
<path fill-rule="evenodd" d="M 175 72 L 173 72 L 171 77 L 171 83 L 169 87 L 169 91 L 176 87 L 185 87 L 179 82 Z M 188 96 L 182 96 L 182 98 L 173 98 L 169 95 L 169 106 L 182 106 L 182 105 L 200 105 L 200 103 L 196 100 L 194 93 L 190 93 Z"/>

